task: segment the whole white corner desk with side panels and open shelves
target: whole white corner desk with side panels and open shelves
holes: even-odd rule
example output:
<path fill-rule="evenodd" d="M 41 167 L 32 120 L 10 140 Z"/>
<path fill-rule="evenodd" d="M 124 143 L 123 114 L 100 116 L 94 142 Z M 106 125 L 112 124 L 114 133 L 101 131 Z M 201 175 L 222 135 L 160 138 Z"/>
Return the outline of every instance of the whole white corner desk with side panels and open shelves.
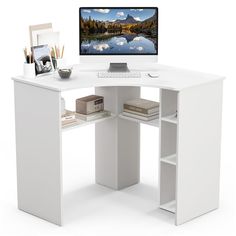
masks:
<path fill-rule="evenodd" d="M 61 92 L 66 90 L 95 87 L 112 112 L 107 119 L 89 122 L 96 123 L 96 183 L 115 190 L 139 183 L 143 121 L 121 113 L 126 100 L 140 97 L 142 86 L 160 89 L 160 118 L 143 122 L 159 127 L 157 207 L 172 212 L 176 225 L 218 208 L 224 77 L 149 67 L 141 78 L 101 79 L 96 69 L 80 66 L 64 81 L 55 75 L 13 78 L 20 210 L 62 225 Z M 149 78 L 152 71 L 159 78 Z"/>

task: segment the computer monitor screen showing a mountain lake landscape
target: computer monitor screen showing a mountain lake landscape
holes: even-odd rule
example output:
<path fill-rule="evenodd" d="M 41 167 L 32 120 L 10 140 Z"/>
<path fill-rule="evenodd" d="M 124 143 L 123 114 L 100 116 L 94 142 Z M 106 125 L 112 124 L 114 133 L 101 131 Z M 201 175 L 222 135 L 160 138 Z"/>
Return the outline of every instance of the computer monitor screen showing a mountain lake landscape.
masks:
<path fill-rule="evenodd" d="M 157 55 L 158 9 L 79 9 L 80 55 Z"/>

